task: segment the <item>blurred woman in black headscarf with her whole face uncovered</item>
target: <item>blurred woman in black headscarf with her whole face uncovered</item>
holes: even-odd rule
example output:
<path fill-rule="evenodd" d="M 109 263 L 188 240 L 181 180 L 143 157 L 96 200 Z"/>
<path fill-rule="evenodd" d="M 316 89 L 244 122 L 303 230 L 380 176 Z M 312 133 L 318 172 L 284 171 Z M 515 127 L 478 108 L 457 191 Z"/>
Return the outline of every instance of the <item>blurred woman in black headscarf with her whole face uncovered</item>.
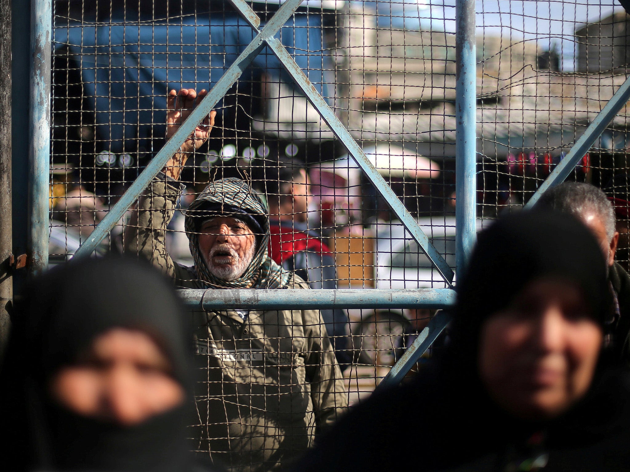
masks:
<path fill-rule="evenodd" d="M 630 388 L 604 367 L 612 302 L 587 228 L 507 216 L 460 280 L 442 357 L 351 410 L 294 470 L 630 470 Z"/>

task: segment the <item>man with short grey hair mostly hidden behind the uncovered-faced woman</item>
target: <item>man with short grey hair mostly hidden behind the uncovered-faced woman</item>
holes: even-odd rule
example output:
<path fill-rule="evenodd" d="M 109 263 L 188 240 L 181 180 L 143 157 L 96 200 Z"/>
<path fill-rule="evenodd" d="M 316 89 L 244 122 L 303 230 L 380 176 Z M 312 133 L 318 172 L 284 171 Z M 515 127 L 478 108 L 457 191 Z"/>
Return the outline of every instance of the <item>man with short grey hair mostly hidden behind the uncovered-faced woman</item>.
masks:
<path fill-rule="evenodd" d="M 548 189 L 537 208 L 551 208 L 570 213 L 595 234 L 608 264 L 608 279 L 615 301 L 615 317 L 610 347 L 616 359 L 630 362 L 630 276 L 615 261 L 619 233 L 615 231 L 615 212 L 605 193 L 591 184 L 565 182 Z M 553 235 L 552 237 L 571 237 Z M 575 257 L 580 257 L 576 254 Z"/>

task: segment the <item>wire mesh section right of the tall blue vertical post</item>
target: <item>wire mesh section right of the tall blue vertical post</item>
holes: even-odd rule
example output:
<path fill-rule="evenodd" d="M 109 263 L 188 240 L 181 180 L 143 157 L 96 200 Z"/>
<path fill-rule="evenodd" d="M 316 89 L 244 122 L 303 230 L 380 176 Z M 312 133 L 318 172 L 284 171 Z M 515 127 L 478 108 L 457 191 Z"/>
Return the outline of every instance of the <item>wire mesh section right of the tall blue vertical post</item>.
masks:
<path fill-rule="evenodd" d="M 627 76 L 617 1 L 484 1 L 478 9 L 478 216 L 520 208 L 567 155 Z M 612 120 L 568 181 L 614 203 L 628 267 L 627 111 Z"/>

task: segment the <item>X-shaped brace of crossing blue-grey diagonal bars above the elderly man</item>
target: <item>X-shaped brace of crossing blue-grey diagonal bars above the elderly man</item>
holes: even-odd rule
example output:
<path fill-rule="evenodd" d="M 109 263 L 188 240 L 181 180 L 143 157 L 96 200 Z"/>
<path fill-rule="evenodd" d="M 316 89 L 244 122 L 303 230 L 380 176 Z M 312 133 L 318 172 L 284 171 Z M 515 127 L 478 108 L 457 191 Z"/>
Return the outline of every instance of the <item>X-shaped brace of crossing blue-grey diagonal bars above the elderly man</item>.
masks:
<path fill-rule="evenodd" d="M 198 123 L 210 113 L 212 108 L 214 108 L 219 100 L 227 93 L 234 82 L 238 80 L 248 65 L 251 64 L 256 55 L 258 55 L 263 48 L 268 47 L 278 57 L 278 60 L 284 65 L 284 68 L 292 77 L 295 84 L 302 90 L 302 93 L 306 95 L 306 98 L 309 99 L 316 110 L 318 110 L 319 114 L 333 133 L 335 133 L 336 137 L 347 147 L 349 154 L 352 155 L 355 162 L 357 162 L 358 166 L 377 191 L 381 193 L 394 214 L 398 216 L 399 220 L 411 233 L 413 239 L 418 242 L 425 254 L 427 254 L 435 265 L 438 272 L 442 275 L 442 278 L 452 285 L 454 272 L 444 260 L 444 257 L 442 257 L 431 244 L 416 220 L 411 216 L 409 211 L 404 208 L 398 196 L 396 196 L 391 187 L 387 185 L 385 179 L 379 174 L 375 167 L 372 166 L 372 163 L 352 135 L 350 135 L 350 132 L 348 132 L 345 126 L 343 126 L 341 121 L 336 117 L 333 110 L 331 110 L 321 94 L 318 93 L 306 77 L 306 74 L 304 74 L 295 63 L 295 60 L 290 56 L 289 52 L 287 52 L 284 45 L 275 37 L 282 25 L 289 20 L 290 16 L 300 6 L 302 0 L 287 0 L 261 30 L 259 29 L 261 24 L 260 18 L 244 0 L 230 1 L 232 6 L 243 15 L 243 18 L 249 23 L 251 28 L 256 31 L 256 37 L 243 50 L 236 61 L 234 61 L 234 64 L 226 70 L 225 74 L 217 81 L 215 86 L 210 89 L 210 92 L 201 103 L 198 104 L 197 108 L 190 113 L 190 116 L 188 116 L 180 126 L 175 135 L 166 142 L 164 147 L 156 154 L 151 162 L 149 162 L 149 165 L 142 171 L 130 188 L 127 189 L 127 192 L 120 198 L 118 203 L 113 206 L 91 235 L 89 235 L 86 242 L 75 252 L 74 257 L 81 258 L 89 256 L 89 254 L 96 249 L 96 246 L 101 240 L 105 238 L 114 225 L 122 218 L 125 211 L 139 198 L 149 182 L 163 169 L 168 159 L 180 149 L 183 142 L 190 133 L 193 132 Z"/>

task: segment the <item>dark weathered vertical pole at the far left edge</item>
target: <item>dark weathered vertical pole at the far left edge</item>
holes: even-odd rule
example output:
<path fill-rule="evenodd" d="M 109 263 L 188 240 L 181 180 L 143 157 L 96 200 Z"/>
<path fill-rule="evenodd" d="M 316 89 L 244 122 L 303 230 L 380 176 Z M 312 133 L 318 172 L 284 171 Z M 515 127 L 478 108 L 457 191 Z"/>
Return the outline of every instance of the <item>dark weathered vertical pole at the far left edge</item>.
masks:
<path fill-rule="evenodd" d="M 11 328 L 13 211 L 11 211 L 11 0 L 0 0 L 0 357 Z"/>

